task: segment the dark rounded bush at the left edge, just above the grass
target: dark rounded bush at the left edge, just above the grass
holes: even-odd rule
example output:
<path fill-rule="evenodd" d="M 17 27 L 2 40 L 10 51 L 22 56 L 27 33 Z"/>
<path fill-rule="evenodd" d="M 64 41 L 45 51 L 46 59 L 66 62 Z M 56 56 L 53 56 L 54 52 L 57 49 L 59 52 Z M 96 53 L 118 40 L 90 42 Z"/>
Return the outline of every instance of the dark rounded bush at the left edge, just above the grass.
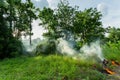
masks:
<path fill-rule="evenodd" d="M 0 40 L 0 58 L 15 57 L 22 53 L 22 43 L 16 38 L 12 37 L 9 40 Z"/>

